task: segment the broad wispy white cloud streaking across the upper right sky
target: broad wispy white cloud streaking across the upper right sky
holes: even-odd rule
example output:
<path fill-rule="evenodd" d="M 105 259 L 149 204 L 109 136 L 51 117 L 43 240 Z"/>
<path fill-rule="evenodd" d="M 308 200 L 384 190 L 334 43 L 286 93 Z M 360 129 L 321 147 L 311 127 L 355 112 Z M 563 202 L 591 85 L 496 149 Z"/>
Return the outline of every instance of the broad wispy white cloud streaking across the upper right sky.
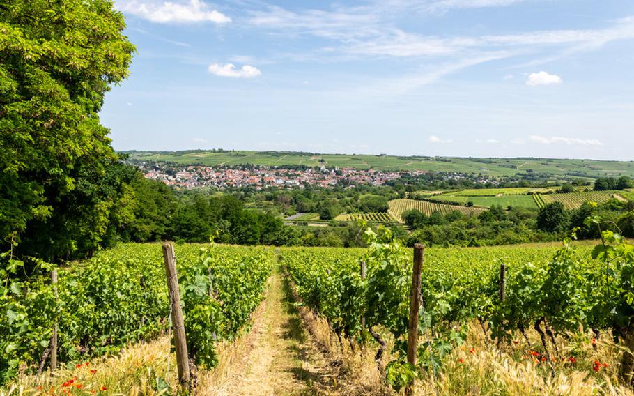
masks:
<path fill-rule="evenodd" d="M 563 47 L 588 50 L 601 47 L 613 40 L 634 38 L 634 18 L 612 21 L 604 29 L 562 29 L 531 31 L 527 33 L 485 36 L 428 36 L 409 33 L 395 27 L 386 15 L 389 10 L 415 7 L 424 8 L 480 8 L 508 6 L 521 0 L 392 0 L 375 6 L 332 8 L 330 10 L 304 9 L 290 11 L 279 6 L 249 11 L 247 22 L 259 28 L 284 31 L 295 35 L 312 35 L 339 42 L 324 50 L 353 56 L 452 56 L 465 52 L 509 50 L 514 54 L 527 54 L 539 47 Z"/>

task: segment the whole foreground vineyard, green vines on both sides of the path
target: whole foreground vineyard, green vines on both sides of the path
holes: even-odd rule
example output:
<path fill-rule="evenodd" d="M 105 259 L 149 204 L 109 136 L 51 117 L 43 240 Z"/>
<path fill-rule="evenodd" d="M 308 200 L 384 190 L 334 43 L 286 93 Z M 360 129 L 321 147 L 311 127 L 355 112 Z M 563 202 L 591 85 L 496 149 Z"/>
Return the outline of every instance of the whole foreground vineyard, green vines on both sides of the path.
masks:
<path fill-rule="evenodd" d="M 570 241 L 562 247 L 427 249 L 421 261 L 421 339 L 415 365 L 406 360 L 412 250 L 392 240 L 387 230 L 367 230 L 365 235 L 367 249 L 279 248 L 277 260 L 300 304 L 325 320 L 335 343 L 339 339 L 339 353 L 344 344 L 350 346 L 348 353 L 355 354 L 357 346 L 369 349 L 367 356 L 376 358 L 375 371 L 394 390 L 419 376 L 435 386 L 433 373 L 465 375 L 467 366 L 455 359 L 462 363 L 484 353 L 473 347 L 476 327 L 484 335 L 479 348 L 497 345 L 497 353 L 513 364 L 530 365 L 535 375 L 585 372 L 594 376 L 596 386 L 603 383 L 604 373 L 617 375 L 613 365 L 618 353 L 610 352 L 612 366 L 607 365 L 605 352 L 598 352 L 592 338 L 612 331 L 621 345 L 630 347 L 628 335 L 634 332 L 628 322 L 634 312 L 628 280 L 634 250 L 618 235 L 605 232 L 604 243 L 594 249 Z M 187 351 L 199 368 L 212 369 L 218 362 L 217 344 L 234 340 L 252 323 L 276 254 L 268 248 L 225 245 L 176 248 Z M 6 335 L 0 341 L 3 381 L 15 377 L 19 367 L 37 370 L 53 323 L 59 328 L 59 358 L 67 367 L 168 333 L 162 270 L 160 245 L 122 244 L 59 269 L 57 297 L 45 276 L 10 284 L 1 300 L 10 319 L 1 325 Z M 275 270 L 272 277 L 278 276 Z M 449 393 L 461 393 L 452 389 Z"/>

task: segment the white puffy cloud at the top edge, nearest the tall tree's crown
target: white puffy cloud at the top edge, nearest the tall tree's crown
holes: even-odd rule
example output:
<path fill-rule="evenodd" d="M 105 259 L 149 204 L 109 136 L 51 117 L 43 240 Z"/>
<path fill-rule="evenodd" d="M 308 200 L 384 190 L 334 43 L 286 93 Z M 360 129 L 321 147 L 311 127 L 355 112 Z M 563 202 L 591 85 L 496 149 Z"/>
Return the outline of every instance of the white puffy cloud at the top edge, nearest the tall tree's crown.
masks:
<path fill-rule="evenodd" d="M 129 13 L 144 20 L 161 24 L 200 22 L 226 24 L 231 22 L 230 17 L 217 10 L 210 9 L 201 0 L 190 0 L 187 3 L 182 1 L 156 3 L 153 1 L 120 0 L 117 2 L 117 8 L 123 13 Z"/>

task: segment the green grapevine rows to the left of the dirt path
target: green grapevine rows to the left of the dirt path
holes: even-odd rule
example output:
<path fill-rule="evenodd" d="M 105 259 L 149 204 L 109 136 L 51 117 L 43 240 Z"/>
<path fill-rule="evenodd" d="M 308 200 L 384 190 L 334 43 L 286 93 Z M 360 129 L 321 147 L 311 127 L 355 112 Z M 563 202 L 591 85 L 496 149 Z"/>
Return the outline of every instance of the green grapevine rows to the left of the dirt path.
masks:
<path fill-rule="evenodd" d="M 232 340 L 260 303 L 273 254 L 266 248 L 176 247 L 187 347 L 199 367 L 217 363 L 215 344 Z M 13 272 L 22 271 L 13 262 Z M 40 271 L 49 271 L 42 264 Z M 84 361 L 116 353 L 169 328 L 170 304 L 158 244 L 123 244 L 80 265 L 58 270 L 56 289 L 47 276 L 11 280 L 0 300 L 0 383 L 20 367 L 42 370 L 58 328 L 59 361 Z M 38 369 L 39 367 L 39 369 Z"/>

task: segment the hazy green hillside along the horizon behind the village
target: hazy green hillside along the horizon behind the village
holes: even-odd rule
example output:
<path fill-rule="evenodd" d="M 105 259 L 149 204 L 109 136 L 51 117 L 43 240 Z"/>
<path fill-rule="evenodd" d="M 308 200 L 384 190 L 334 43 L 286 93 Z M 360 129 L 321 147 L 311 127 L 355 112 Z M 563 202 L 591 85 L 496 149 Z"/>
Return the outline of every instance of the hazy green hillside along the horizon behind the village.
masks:
<path fill-rule="evenodd" d="M 321 154 L 286 151 L 124 151 L 130 160 L 176 162 L 179 165 L 235 166 L 308 165 L 354 167 L 394 171 L 425 170 L 432 172 L 460 172 L 484 176 L 535 176 L 557 178 L 575 176 L 634 177 L 634 162 L 600 160 L 557 160 L 551 158 L 457 158 L 457 157 L 399 157 L 394 155 Z M 546 177 L 544 177 L 546 176 Z"/>

